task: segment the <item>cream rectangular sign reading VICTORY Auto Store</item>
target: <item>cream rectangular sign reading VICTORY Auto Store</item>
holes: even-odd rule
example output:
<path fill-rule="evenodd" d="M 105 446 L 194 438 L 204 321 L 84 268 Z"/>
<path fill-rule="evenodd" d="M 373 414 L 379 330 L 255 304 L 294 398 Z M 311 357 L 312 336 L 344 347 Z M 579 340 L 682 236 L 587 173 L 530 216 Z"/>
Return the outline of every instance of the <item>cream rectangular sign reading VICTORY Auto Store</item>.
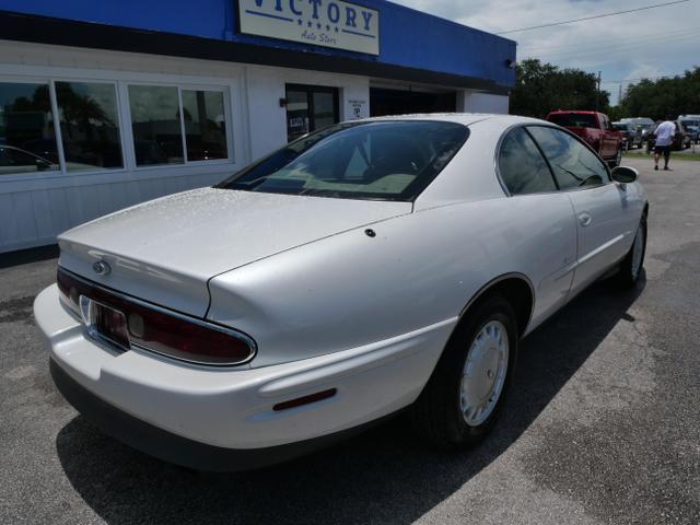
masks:
<path fill-rule="evenodd" d="M 380 54 L 380 12 L 338 0 L 238 0 L 241 33 Z"/>

